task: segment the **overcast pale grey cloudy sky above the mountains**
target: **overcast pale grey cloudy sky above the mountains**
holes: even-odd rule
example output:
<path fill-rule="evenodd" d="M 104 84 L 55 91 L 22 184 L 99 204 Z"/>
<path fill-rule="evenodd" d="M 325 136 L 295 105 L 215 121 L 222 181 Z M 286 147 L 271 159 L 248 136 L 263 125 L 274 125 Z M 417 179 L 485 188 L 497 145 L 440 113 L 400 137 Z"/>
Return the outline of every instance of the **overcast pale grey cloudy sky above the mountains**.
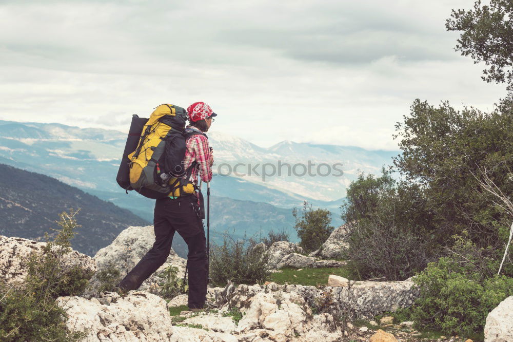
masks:
<path fill-rule="evenodd" d="M 212 130 L 396 149 L 420 98 L 491 109 L 445 30 L 473 1 L 1 1 L 0 119 L 128 131 L 133 113 L 205 101 Z"/>

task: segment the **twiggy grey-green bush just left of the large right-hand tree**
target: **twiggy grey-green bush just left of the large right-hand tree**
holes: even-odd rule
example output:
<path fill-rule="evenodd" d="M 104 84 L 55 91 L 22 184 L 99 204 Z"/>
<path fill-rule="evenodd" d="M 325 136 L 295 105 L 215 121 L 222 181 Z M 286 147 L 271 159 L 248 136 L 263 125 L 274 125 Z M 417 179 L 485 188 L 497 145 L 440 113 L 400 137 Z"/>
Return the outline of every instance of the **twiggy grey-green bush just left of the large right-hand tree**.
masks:
<path fill-rule="evenodd" d="M 380 177 L 360 174 L 341 208 L 342 219 L 352 220 L 344 258 L 360 278 L 403 280 L 434 258 L 432 215 L 418 186 L 396 182 L 384 168 Z"/>

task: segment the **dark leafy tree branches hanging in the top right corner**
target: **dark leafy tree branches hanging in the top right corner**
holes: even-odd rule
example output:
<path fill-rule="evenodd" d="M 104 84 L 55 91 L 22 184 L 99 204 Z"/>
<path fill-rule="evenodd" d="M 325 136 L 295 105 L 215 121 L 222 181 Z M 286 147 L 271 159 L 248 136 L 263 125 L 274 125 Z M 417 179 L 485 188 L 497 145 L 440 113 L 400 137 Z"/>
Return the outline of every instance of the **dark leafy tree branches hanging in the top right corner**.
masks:
<path fill-rule="evenodd" d="M 452 10 L 447 19 L 449 31 L 463 31 L 456 51 L 474 60 L 484 62 L 483 80 L 508 84 L 513 91 L 513 3 L 510 0 L 490 0 L 489 6 L 482 6 L 478 0 L 473 9 Z"/>

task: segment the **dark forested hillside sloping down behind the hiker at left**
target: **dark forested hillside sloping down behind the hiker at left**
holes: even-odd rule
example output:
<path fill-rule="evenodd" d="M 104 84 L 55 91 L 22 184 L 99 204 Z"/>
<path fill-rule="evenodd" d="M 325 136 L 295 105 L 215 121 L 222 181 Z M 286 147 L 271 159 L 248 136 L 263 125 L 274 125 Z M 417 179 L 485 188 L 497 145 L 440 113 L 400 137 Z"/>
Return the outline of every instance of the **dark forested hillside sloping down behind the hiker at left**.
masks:
<path fill-rule="evenodd" d="M 72 239 L 78 252 L 94 256 L 130 225 L 148 221 L 56 179 L 0 164 L 0 235 L 44 241 L 58 214 L 77 210 L 82 225 Z"/>

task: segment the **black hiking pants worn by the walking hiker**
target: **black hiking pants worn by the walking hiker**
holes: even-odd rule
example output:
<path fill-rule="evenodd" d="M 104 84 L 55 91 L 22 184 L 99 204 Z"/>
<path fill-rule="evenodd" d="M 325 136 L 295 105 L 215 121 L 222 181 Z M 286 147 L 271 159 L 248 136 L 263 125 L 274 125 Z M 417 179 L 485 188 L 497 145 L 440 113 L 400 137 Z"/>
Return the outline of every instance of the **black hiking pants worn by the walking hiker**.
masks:
<path fill-rule="evenodd" d="M 174 200 L 157 199 L 153 218 L 153 247 L 119 283 L 119 287 L 127 291 L 139 289 L 143 281 L 166 262 L 174 232 L 177 231 L 189 248 L 189 308 L 203 308 L 207 295 L 208 261 L 205 231 L 199 213 L 196 196 L 184 196 Z"/>

